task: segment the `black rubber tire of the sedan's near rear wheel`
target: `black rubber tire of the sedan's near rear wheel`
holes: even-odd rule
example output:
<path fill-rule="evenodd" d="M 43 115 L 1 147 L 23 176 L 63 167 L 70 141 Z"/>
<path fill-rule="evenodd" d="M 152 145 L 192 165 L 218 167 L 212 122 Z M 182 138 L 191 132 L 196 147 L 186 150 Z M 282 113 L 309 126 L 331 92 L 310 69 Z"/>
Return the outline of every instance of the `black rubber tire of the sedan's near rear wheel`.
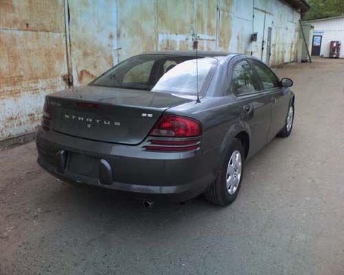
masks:
<path fill-rule="evenodd" d="M 233 142 L 230 144 L 228 150 L 226 151 L 226 157 L 224 158 L 224 161 L 221 164 L 221 167 L 219 169 L 219 174 L 217 175 L 215 182 L 204 194 L 207 201 L 209 201 L 210 203 L 216 204 L 218 206 L 228 206 L 228 204 L 232 203 L 235 200 L 240 190 L 241 181 L 242 181 L 243 172 L 244 172 L 244 161 L 245 161 L 244 152 L 245 152 L 244 146 L 242 145 L 241 141 L 235 138 Z M 231 159 L 233 157 L 233 154 L 237 156 L 237 153 L 239 153 L 241 157 L 240 173 L 238 172 L 239 162 L 236 160 L 237 164 L 235 164 L 235 162 L 232 162 L 232 159 Z M 239 157 L 237 157 L 237 159 L 238 158 Z M 234 169 L 233 173 L 231 173 L 231 176 L 230 176 L 232 177 L 231 180 L 229 179 L 230 171 L 228 171 L 228 166 L 231 166 Z M 236 180 L 233 181 L 235 179 L 235 166 L 237 167 L 237 170 L 236 170 L 237 177 L 236 177 Z M 231 191 L 230 191 L 230 188 L 228 190 L 227 179 L 229 179 L 228 182 L 233 182 L 233 184 L 230 185 L 232 188 Z M 235 185 L 237 185 L 237 188 L 234 188 Z"/>

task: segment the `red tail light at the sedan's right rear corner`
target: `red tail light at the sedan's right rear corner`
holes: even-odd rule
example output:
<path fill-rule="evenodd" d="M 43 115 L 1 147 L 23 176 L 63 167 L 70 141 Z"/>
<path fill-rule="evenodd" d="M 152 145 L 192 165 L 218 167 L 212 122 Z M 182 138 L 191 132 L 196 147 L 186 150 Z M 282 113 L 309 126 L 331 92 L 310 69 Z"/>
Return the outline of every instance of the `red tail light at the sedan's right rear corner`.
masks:
<path fill-rule="evenodd" d="M 193 151 L 200 148 L 202 133 L 202 124 L 197 120 L 177 115 L 162 115 L 149 133 L 150 137 L 160 139 L 149 140 L 145 147 L 148 151 Z M 161 139 L 163 137 L 169 137 L 169 140 Z"/>

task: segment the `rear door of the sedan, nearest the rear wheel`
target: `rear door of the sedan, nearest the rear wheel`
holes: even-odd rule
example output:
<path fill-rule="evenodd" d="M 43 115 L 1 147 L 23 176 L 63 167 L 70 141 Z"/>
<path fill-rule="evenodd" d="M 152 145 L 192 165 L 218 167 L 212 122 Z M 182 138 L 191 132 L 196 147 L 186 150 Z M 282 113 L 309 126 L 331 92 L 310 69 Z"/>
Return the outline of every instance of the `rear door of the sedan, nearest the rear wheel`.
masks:
<path fill-rule="evenodd" d="M 230 68 L 230 90 L 241 108 L 241 120 L 250 127 L 250 155 L 268 139 L 271 120 L 270 94 L 261 89 L 259 79 L 246 58 L 233 61 Z"/>

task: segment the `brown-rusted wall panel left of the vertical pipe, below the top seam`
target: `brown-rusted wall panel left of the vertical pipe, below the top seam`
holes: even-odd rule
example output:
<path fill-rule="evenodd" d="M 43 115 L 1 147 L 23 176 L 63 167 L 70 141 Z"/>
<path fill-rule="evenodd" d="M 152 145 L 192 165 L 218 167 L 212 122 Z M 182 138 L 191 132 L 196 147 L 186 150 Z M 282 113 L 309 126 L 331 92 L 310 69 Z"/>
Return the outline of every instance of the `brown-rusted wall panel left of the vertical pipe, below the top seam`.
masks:
<path fill-rule="evenodd" d="M 0 37 L 0 83 L 54 78 L 65 71 L 62 34 L 0 30 Z"/>

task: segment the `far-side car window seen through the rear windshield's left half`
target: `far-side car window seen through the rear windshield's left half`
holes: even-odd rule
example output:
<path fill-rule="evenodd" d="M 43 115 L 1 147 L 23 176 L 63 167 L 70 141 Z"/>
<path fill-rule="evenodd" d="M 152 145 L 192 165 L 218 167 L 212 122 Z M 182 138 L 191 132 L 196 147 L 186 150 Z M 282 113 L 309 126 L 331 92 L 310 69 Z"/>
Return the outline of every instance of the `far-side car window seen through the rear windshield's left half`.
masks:
<path fill-rule="evenodd" d="M 142 83 L 147 84 L 149 82 L 149 76 L 151 75 L 151 69 L 154 65 L 154 61 L 147 61 L 132 67 L 123 76 L 123 83 Z"/>

